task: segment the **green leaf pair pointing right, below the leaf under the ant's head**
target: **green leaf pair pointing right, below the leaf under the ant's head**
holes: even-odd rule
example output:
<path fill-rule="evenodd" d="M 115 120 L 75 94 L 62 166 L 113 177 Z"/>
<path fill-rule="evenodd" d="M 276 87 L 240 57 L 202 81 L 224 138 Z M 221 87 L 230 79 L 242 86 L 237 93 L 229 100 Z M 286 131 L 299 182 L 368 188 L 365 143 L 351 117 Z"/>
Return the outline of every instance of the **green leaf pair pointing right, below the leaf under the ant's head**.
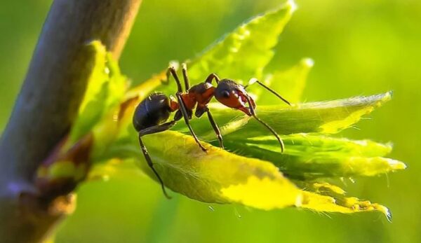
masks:
<path fill-rule="evenodd" d="M 226 140 L 225 145 L 237 154 L 270 161 L 293 179 L 375 176 L 406 168 L 403 162 L 382 157 L 392 151 L 390 144 L 309 134 L 283 136 L 283 142 L 284 153 L 274 137 Z"/>

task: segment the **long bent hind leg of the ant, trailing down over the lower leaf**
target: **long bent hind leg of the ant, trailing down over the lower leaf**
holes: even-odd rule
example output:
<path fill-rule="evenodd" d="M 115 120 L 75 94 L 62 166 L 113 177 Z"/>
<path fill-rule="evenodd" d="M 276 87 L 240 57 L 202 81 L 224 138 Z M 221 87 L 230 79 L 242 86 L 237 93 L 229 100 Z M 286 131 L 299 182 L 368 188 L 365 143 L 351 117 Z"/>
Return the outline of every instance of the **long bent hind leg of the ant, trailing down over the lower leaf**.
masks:
<path fill-rule="evenodd" d="M 156 133 L 156 132 L 163 132 L 165 130 L 170 129 L 174 124 L 175 124 L 175 121 L 173 120 L 171 122 L 163 123 L 161 125 L 156 125 L 156 126 L 153 126 L 153 127 L 147 127 L 144 130 L 140 130 L 140 132 L 139 132 L 139 144 L 140 144 L 140 148 L 142 148 L 142 153 L 145 156 L 145 160 L 147 162 L 147 165 L 149 165 L 149 167 L 152 169 L 152 172 L 154 172 L 156 178 L 158 179 L 159 183 L 161 183 L 163 195 L 165 195 L 165 197 L 168 198 L 168 199 L 171 199 L 171 197 L 166 193 L 165 186 L 163 186 L 163 181 L 161 179 L 161 176 L 159 176 L 158 172 L 156 172 L 156 170 L 154 168 L 154 164 L 152 162 L 152 159 L 149 156 L 149 153 L 147 152 L 145 144 L 143 144 L 142 136 L 145 136 L 146 134 L 153 134 L 153 133 Z"/>

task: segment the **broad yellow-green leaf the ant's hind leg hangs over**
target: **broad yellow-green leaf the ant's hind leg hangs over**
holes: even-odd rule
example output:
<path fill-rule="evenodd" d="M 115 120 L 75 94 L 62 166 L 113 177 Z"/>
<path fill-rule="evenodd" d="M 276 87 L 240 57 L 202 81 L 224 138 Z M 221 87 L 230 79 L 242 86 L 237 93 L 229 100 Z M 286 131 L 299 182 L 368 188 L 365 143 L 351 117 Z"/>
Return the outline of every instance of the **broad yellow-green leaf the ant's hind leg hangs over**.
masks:
<path fill-rule="evenodd" d="M 131 138 L 134 139 L 121 140 L 120 144 L 113 146 L 114 154 L 141 160 L 140 167 L 143 171 L 156 179 L 143 160 L 136 134 L 132 135 Z M 263 180 L 268 186 L 272 185 L 279 193 L 285 194 L 285 197 L 277 199 L 277 203 L 283 207 L 295 203 L 298 190 L 270 163 L 244 158 L 213 146 L 207 146 L 206 154 L 192 137 L 178 132 L 161 132 L 145 136 L 144 140 L 152 160 L 156 162 L 155 169 L 166 186 L 175 192 L 202 202 L 229 203 L 241 198 L 245 200 L 243 204 L 252 206 L 241 195 L 234 193 L 236 190 L 232 186 Z M 260 207 L 264 203 L 259 204 Z"/>

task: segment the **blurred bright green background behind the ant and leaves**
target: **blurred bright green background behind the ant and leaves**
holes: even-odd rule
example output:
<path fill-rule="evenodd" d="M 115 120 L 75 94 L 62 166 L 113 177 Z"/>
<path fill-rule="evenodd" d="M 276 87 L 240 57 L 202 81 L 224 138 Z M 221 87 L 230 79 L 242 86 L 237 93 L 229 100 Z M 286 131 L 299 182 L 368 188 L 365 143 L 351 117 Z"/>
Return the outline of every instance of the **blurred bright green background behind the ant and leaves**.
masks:
<path fill-rule="evenodd" d="M 244 20 L 282 2 L 144 0 L 121 68 L 139 83 L 169 60 L 194 57 Z M 297 2 L 272 65 L 282 69 L 312 57 L 305 101 L 394 90 L 392 102 L 370 116 L 374 120 L 340 134 L 393 141 L 392 158 L 407 163 L 403 172 L 340 185 L 349 195 L 387 205 L 392 223 L 380 214 L 258 211 L 175 193 L 166 200 L 158 184 L 135 170 L 138 176 L 81 186 L 76 212 L 60 225 L 56 242 L 421 242 L 421 1 Z M 50 5 L 51 0 L 1 1 L 0 131 Z"/>

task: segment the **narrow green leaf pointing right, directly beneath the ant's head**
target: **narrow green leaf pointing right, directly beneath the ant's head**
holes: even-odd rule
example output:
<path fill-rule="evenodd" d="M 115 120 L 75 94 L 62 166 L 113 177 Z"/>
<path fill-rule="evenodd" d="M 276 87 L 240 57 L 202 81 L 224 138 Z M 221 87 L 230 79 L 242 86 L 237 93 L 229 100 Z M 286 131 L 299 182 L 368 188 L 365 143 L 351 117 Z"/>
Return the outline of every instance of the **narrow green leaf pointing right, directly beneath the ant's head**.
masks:
<path fill-rule="evenodd" d="M 386 92 L 368 97 L 295 104 L 289 108 L 283 105 L 258 106 L 256 113 L 279 134 L 309 132 L 330 134 L 357 123 L 361 117 L 371 113 L 391 98 L 392 92 Z M 241 139 L 244 134 L 247 134 L 247 137 L 270 134 L 266 127 L 241 111 L 229 109 L 221 104 L 211 104 L 209 109 L 226 140 Z M 208 141 L 215 139 L 215 132 L 206 122 L 206 118 L 192 119 L 191 124 L 198 134 L 203 134 L 203 139 Z M 189 132 L 182 123 L 175 125 L 173 130 Z"/>

